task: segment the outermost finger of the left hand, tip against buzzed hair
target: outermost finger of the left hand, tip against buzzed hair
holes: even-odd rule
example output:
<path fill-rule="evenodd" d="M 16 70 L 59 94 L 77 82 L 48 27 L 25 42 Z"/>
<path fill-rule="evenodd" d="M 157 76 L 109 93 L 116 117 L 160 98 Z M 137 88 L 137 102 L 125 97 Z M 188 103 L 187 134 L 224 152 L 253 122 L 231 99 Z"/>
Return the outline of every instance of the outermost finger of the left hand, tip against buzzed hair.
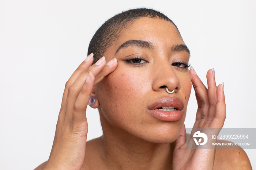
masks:
<path fill-rule="evenodd" d="M 67 102 L 68 88 L 75 82 L 75 80 L 87 70 L 93 63 L 93 53 L 87 56 L 87 58 L 78 66 L 72 76 L 68 79 L 65 84 L 65 89 L 62 97 L 61 108 L 64 108 Z"/>

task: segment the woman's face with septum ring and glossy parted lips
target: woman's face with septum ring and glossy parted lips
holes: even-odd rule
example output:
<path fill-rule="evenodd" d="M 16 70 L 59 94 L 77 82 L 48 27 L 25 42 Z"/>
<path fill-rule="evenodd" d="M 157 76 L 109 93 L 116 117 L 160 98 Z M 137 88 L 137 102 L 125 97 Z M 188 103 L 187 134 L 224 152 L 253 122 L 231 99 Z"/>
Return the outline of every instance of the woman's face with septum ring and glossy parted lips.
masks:
<path fill-rule="evenodd" d="M 177 28 L 140 18 L 104 55 L 107 62 L 116 57 L 118 66 L 94 87 L 103 130 L 155 143 L 176 140 L 191 92 L 189 53 Z"/>

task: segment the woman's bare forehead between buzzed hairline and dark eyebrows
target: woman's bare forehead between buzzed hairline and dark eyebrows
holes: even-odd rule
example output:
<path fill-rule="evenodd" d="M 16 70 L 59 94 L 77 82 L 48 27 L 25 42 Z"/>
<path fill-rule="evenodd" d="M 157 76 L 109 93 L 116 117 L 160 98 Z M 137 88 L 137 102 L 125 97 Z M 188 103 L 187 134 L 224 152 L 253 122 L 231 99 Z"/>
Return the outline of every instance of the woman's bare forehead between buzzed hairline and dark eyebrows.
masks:
<path fill-rule="evenodd" d="M 106 53 L 113 56 L 118 47 L 128 40 L 151 42 L 159 50 L 173 45 L 185 45 L 173 23 L 164 19 L 142 17 L 125 28 Z"/>

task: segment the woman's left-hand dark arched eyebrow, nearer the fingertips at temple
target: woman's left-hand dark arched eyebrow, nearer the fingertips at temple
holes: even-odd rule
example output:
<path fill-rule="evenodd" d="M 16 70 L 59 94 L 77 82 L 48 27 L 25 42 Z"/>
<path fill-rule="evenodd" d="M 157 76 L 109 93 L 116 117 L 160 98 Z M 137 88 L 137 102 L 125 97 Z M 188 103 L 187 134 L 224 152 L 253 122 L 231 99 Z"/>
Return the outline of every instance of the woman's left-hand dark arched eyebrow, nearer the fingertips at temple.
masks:
<path fill-rule="evenodd" d="M 118 49 L 116 50 L 116 53 L 118 53 L 121 49 L 125 49 L 132 46 L 140 47 L 143 49 L 150 49 L 150 50 L 154 49 L 154 46 L 151 42 L 143 41 L 143 40 L 128 40 L 118 47 Z"/>

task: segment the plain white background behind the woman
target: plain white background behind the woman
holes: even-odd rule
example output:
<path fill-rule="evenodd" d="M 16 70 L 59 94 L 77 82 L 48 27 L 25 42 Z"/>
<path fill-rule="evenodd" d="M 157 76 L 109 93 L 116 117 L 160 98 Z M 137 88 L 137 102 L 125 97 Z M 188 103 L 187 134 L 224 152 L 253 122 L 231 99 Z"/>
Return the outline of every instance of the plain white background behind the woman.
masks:
<path fill-rule="evenodd" d="M 255 1 L 0 1 L 0 169 L 34 169 L 49 157 L 65 82 L 85 59 L 94 32 L 135 7 L 165 13 L 191 50 L 206 84 L 224 82 L 225 128 L 256 128 Z M 195 120 L 192 91 L 186 127 Z M 101 135 L 89 109 L 88 139 Z M 254 168 L 255 150 L 245 150 Z"/>

